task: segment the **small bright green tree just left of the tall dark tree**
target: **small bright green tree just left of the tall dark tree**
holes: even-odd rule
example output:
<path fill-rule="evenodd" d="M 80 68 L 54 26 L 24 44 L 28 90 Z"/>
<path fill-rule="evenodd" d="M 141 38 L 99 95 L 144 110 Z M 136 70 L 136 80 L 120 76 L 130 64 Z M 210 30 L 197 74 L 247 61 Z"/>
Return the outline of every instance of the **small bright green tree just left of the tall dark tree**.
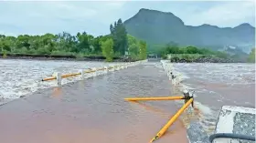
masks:
<path fill-rule="evenodd" d="M 101 42 L 102 55 L 106 57 L 107 62 L 112 62 L 113 58 L 113 41 L 112 38 Z"/>

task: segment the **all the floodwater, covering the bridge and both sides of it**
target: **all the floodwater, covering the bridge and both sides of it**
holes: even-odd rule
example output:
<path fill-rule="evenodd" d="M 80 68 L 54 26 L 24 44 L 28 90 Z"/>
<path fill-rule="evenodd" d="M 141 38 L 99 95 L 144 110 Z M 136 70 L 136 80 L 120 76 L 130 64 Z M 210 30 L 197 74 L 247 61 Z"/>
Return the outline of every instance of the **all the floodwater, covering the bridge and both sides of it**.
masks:
<path fill-rule="evenodd" d="M 173 64 L 173 71 L 182 74 L 178 86 L 171 84 L 160 62 L 84 80 L 65 78 L 62 87 L 54 87 L 56 81 L 40 81 L 55 71 L 66 74 L 117 64 L 0 60 L 0 103 L 17 98 L 0 106 L 1 142 L 148 142 L 184 101 L 128 102 L 123 98 L 182 96 L 184 87 L 196 92 L 196 109 L 184 112 L 159 143 L 187 143 L 190 122 L 212 134 L 221 106 L 255 107 L 252 64 Z"/>

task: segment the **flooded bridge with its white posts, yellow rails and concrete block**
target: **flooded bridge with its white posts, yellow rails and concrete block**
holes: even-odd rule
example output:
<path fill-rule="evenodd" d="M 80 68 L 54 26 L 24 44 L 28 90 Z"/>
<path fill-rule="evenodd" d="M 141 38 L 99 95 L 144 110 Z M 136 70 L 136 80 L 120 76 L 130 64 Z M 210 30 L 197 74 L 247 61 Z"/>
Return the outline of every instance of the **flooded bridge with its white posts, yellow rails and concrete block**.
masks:
<path fill-rule="evenodd" d="M 223 142 L 221 137 L 234 132 L 236 138 L 251 138 L 255 141 L 255 125 L 252 124 L 255 108 L 222 107 L 221 113 L 232 114 L 219 114 L 222 116 L 219 116 L 216 125 L 217 134 L 208 138 L 208 133 L 200 125 L 207 121 L 202 119 L 207 117 L 203 114 L 205 108 L 197 102 L 196 106 L 200 108 L 194 107 L 192 112 L 190 109 L 183 112 L 194 101 L 194 97 L 181 97 L 181 94 L 186 94 L 180 93 L 182 84 L 179 75 L 169 75 L 170 71 L 175 71 L 171 69 L 171 63 L 140 61 L 131 65 L 128 68 L 127 64 L 91 67 L 79 73 L 56 73 L 53 77 L 43 78 L 42 82 L 57 81 L 59 87 L 37 90 L 32 95 L 0 106 L 1 142 L 144 143 L 161 137 L 155 142 L 209 143 L 211 137 L 212 140 Z M 100 71 L 104 75 L 97 76 Z M 84 79 L 90 73 L 93 73 L 92 77 Z M 80 77 L 80 80 L 61 85 L 62 77 Z M 128 102 L 124 100 L 127 97 L 142 97 L 141 100 L 148 100 L 148 97 L 162 100 L 167 97 L 188 101 L 186 104 L 183 100 Z M 178 117 L 178 114 L 182 116 Z M 201 122 L 198 124 L 198 121 Z M 223 135 L 223 132 L 227 134 Z M 245 132 L 251 136 L 245 137 Z"/>

